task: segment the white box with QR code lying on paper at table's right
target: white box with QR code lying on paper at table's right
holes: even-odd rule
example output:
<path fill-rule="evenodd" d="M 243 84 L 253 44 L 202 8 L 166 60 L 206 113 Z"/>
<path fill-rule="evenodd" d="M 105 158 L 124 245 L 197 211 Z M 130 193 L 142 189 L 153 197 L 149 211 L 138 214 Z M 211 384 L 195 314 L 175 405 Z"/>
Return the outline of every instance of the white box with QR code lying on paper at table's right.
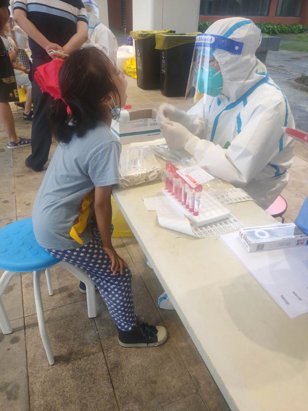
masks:
<path fill-rule="evenodd" d="M 308 240 L 308 236 L 293 223 L 243 227 L 238 238 L 247 252 L 302 247 Z"/>

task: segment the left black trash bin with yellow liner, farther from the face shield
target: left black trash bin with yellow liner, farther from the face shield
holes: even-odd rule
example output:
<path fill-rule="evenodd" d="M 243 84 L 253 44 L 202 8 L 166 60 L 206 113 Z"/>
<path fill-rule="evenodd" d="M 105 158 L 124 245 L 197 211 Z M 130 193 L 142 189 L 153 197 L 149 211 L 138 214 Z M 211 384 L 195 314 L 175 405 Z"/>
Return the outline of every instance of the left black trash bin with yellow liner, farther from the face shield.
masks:
<path fill-rule="evenodd" d="M 160 89 L 160 50 L 155 48 L 155 34 L 164 31 L 131 31 L 135 40 L 137 85 L 143 90 Z"/>

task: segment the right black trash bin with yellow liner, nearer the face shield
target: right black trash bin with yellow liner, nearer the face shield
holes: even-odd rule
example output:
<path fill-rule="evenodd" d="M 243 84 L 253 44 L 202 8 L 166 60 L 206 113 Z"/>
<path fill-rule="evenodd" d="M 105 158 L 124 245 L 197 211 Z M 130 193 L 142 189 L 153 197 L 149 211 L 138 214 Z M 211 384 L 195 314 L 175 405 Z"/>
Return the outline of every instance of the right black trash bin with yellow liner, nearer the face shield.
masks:
<path fill-rule="evenodd" d="M 189 77 L 196 34 L 159 33 L 160 91 L 167 97 L 184 97 Z"/>

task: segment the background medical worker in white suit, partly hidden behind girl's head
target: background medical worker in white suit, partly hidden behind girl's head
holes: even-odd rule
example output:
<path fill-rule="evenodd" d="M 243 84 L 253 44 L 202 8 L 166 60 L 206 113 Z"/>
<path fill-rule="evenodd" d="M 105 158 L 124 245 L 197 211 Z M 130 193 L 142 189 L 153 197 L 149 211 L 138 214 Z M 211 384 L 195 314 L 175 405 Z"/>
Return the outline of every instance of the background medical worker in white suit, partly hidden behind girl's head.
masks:
<path fill-rule="evenodd" d="M 116 51 L 118 43 L 116 37 L 108 27 L 100 23 L 98 7 L 93 0 L 82 0 L 88 15 L 88 36 L 95 45 L 103 48 L 103 51 L 116 63 Z M 91 44 L 93 44 L 91 43 Z"/>

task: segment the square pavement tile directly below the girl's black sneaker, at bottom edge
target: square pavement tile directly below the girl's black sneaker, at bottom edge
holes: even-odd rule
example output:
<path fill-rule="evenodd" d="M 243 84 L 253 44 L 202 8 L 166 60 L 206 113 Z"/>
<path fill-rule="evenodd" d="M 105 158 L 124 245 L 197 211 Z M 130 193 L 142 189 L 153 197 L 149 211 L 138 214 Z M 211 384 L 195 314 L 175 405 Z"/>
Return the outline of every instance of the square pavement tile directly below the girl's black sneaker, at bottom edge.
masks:
<path fill-rule="evenodd" d="M 122 411 L 153 411 L 196 392 L 172 339 L 153 348 L 115 346 L 105 356 Z"/>

